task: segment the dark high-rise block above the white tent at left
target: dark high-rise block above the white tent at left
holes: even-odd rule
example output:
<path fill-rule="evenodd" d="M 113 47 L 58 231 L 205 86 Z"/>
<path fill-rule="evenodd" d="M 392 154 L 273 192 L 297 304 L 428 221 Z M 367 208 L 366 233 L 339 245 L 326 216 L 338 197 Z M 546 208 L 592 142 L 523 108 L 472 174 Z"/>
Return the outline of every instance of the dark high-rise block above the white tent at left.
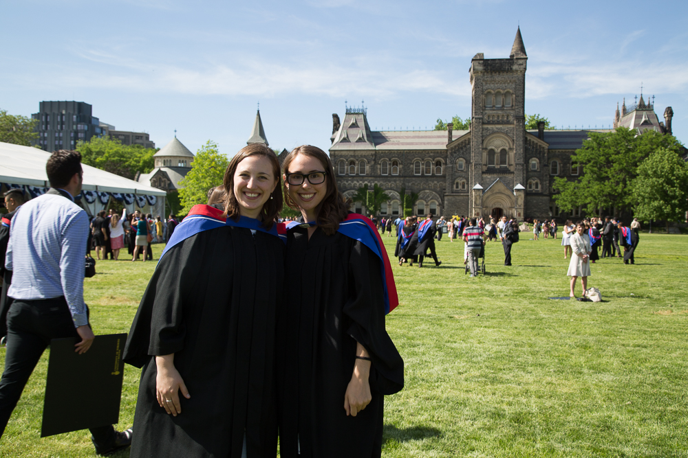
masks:
<path fill-rule="evenodd" d="M 39 138 L 34 140 L 34 145 L 45 151 L 72 150 L 78 140 L 89 141 L 104 133 L 100 121 L 92 115 L 91 105 L 84 102 L 41 102 L 39 113 L 31 117 L 39 121 L 36 125 Z"/>

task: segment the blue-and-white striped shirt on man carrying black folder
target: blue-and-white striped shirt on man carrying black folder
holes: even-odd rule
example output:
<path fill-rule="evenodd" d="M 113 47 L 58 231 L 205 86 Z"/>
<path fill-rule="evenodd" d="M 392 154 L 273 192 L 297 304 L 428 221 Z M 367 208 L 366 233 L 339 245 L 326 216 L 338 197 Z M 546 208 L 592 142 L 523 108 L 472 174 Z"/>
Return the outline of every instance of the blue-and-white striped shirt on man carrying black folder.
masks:
<path fill-rule="evenodd" d="M 8 296 L 64 296 L 77 327 L 88 324 L 83 282 L 89 228 L 86 212 L 71 197 L 43 194 L 21 206 L 12 218 L 5 266 L 12 271 Z"/>

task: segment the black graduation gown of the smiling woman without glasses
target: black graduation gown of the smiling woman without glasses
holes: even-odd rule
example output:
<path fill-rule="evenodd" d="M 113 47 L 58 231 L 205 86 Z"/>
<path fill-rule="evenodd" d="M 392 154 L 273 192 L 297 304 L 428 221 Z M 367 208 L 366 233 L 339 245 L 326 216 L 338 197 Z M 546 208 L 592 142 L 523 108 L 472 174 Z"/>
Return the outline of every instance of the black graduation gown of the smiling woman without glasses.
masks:
<path fill-rule="evenodd" d="M 143 367 L 131 457 L 277 454 L 275 322 L 284 243 L 242 227 L 187 238 L 162 257 L 144 293 L 124 360 Z M 191 399 L 173 417 L 155 397 L 155 358 L 175 354 Z"/>

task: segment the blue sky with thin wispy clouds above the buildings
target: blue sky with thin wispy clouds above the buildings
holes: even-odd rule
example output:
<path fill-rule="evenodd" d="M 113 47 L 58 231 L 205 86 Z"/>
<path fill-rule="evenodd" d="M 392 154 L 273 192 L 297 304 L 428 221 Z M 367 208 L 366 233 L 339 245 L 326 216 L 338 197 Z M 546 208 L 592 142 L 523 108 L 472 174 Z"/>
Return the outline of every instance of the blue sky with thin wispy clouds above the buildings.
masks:
<path fill-rule="evenodd" d="M 685 1 L 22 0 L 0 14 L 0 108 L 78 100 L 120 130 L 208 139 L 232 156 L 260 102 L 272 148 L 330 145 L 332 113 L 365 100 L 373 129 L 468 117 L 471 58 L 507 58 L 520 24 L 526 113 L 608 126 L 656 95 L 688 143 Z"/>

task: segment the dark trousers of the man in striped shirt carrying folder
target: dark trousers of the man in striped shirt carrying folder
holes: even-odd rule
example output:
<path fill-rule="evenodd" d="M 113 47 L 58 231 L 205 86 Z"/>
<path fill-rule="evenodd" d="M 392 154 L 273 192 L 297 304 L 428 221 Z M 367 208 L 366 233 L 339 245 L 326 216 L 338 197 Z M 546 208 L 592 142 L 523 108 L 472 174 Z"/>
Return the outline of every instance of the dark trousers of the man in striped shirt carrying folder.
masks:
<path fill-rule="evenodd" d="M 64 297 L 35 301 L 15 300 L 7 314 L 7 328 L 5 371 L 0 379 L 0 437 L 5 432 L 26 382 L 50 341 L 64 337 L 81 340 Z M 108 446 L 115 439 L 111 425 L 89 431 L 98 445 Z"/>

